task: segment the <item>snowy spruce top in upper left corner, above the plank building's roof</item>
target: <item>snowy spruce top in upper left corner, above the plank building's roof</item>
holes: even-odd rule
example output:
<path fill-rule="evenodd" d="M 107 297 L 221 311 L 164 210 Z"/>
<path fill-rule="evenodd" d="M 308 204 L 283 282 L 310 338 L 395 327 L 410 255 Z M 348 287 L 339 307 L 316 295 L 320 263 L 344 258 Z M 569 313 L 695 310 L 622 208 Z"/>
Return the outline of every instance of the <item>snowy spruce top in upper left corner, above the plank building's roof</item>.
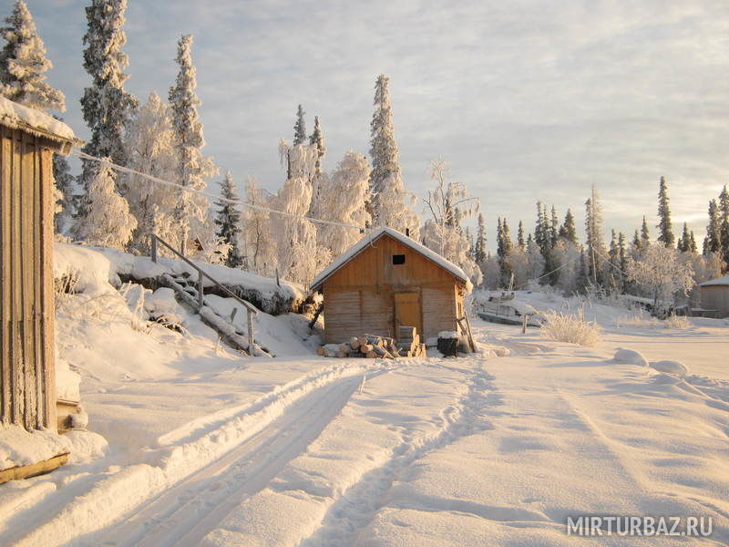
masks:
<path fill-rule="evenodd" d="M 66 110 L 66 98 L 46 83 L 53 67 L 46 46 L 36 32 L 36 23 L 23 0 L 15 0 L 13 13 L 0 28 L 5 47 L 0 51 L 0 95 L 30 108 Z"/>

